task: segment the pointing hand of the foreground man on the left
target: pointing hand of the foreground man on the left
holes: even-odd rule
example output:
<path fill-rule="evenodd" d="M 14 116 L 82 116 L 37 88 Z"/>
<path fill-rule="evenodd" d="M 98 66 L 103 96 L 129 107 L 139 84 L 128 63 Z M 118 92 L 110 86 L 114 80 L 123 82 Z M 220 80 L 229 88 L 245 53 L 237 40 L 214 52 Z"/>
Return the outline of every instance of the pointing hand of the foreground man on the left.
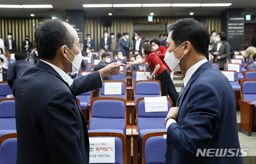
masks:
<path fill-rule="evenodd" d="M 100 76 L 104 78 L 104 77 L 120 74 L 120 66 L 126 66 L 126 65 L 122 63 L 112 62 L 111 64 L 108 64 L 107 66 L 99 70 Z"/>

